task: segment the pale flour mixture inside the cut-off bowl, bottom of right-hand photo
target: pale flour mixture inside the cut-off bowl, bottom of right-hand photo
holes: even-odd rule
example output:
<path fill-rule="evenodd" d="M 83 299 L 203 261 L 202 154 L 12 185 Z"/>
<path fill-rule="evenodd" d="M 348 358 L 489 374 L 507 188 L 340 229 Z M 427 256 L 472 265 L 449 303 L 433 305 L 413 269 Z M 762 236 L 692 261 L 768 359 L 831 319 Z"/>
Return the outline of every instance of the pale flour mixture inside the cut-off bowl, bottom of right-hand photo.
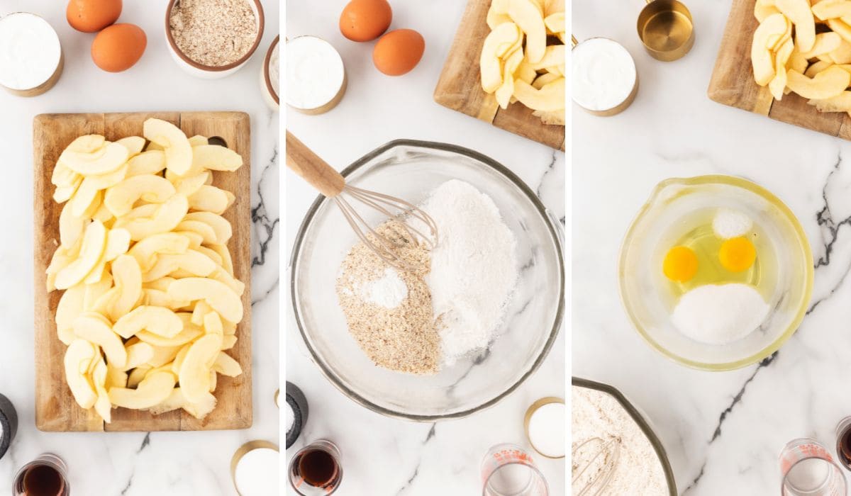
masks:
<path fill-rule="evenodd" d="M 571 387 L 571 440 L 574 451 L 592 437 L 603 440 L 620 438 L 620 455 L 597 459 L 591 468 L 577 477 L 579 470 L 597 453 L 585 445 L 571 457 L 575 479 L 573 493 L 579 494 L 601 470 L 614 470 L 601 494 L 618 496 L 667 496 L 668 484 L 659 456 L 643 430 L 613 396 L 585 387 Z M 602 461 L 601 461 L 602 460 Z M 593 492 L 589 493 L 593 494 Z"/>

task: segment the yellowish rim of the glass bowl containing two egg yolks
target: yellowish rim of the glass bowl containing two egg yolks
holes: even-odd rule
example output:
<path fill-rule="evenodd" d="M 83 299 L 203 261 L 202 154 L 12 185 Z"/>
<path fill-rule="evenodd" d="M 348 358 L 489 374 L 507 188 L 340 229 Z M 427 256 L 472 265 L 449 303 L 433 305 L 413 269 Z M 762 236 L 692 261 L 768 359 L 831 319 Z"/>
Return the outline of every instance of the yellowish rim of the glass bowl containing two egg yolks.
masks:
<path fill-rule="evenodd" d="M 780 212 L 782 212 L 792 226 L 792 229 L 797 233 L 798 238 L 801 240 L 801 249 L 802 256 L 807 259 L 810 263 L 807 266 L 807 274 L 806 274 L 806 288 L 804 289 L 804 294 L 802 298 L 801 308 L 798 310 L 797 316 L 790 323 L 789 327 L 786 328 L 785 332 L 780 335 L 779 338 L 775 339 L 771 344 L 762 348 L 761 351 L 758 351 L 754 355 L 747 356 L 742 358 L 741 360 L 737 360 L 734 362 L 723 362 L 723 363 L 706 363 L 706 362 L 696 362 L 694 360 L 689 360 L 688 358 L 684 358 L 683 356 L 679 356 L 671 351 L 665 349 L 664 346 L 660 345 L 655 339 L 650 337 L 647 331 L 644 330 L 641 323 L 638 322 L 637 317 L 631 310 L 631 306 L 628 303 L 628 299 L 625 294 L 625 284 L 624 284 L 624 264 L 626 261 L 626 252 L 627 247 L 630 245 L 632 241 L 632 236 L 637 227 L 638 221 L 644 217 L 645 214 L 648 213 L 648 210 L 653 207 L 656 198 L 659 197 L 661 191 L 665 190 L 667 186 L 670 185 L 712 185 L 712 184 L 722 184 L 722 185 L 732 185 L 737 186 L 747 191 L 751 191 L 752 193 L 765 198 L 765 200 L 774 207 L 778 208 Z M 780 200 L 779 197 L 774 196 L 774 193 L 768 191 L 763 188 L 761 185 L 757 185 L 757 183 L 745 180 L 740 177 L 724 175 L 724 174 L 708 174 L 708 175 L 700 175 L 688 178 L 670 178 L 661 181 L 658 185 L 656 185 L 653 189 L 653 192 L 650 194 L 648 201 L 645 202 L 642 208 L 638 211 L 638 214 L 635 216 L 635 219 L 632 219 L 629 229 L 626 231 L 626 235 L 624 237 L 624 241 L 620 245 L 620 254 L 618 255 L 618 289 L 620 292 L 620 302 L 624 306 L 624 310 L 626 311 L 626 316 L 629 317 L 630 322 L 632 322 L 632 326 L 636 329 L 637 333 L 641 335 L 641 337 L 650 345 L 654 350 L 659 351 L 662 355 L 667 356 L 674 362 L 686 365 L 691 368 L 697 368 L 699 370 L 710 370 L 710 371 L 728 371 L 735 370 L 737 368 L 747 367 L 748 365 L 752 365 L 754 363 L 760 362 L 763 359 L 770 356 L 774 351 L 780 350 L 780 346 L 784 345 L 785 342 L 791 338 L 792 334 L 795 334 L 797 328 L 801 326 L 801 322 L 805 316 L 807 316 L 807 309 L 809 306 L 810 299 L 813 294 L 813 279 L 814 279 L 814 266 L 813 266 L 813 252 L 809 245 L 809 239 L 807 237 L 807 233 L 803 231 L 803 227 L 801 222 L 797 219 L 797 216 L 791 211 L 791 208 L 786 206 L 786 204 Z"/>

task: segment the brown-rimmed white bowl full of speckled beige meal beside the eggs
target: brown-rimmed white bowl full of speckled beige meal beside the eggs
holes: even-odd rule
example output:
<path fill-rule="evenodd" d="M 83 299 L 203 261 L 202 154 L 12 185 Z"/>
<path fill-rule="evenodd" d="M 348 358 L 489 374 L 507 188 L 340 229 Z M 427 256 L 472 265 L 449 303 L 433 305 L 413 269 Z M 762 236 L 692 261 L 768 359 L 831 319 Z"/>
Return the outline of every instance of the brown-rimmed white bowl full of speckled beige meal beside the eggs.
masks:
<path fill-rule="evenodd" d="M 172 0 L 165 36 L 172 58 L 192 76 L 218 79 L 238 71 L 260 46 L 260 0 Z"/>

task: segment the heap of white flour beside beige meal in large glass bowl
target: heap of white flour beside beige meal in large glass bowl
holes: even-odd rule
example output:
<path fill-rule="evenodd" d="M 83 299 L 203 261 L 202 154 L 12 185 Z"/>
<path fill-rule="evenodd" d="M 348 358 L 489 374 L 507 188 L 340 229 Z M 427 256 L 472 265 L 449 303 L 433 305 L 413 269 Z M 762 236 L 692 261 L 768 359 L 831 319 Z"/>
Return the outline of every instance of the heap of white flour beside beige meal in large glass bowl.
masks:
<path fill-rule="evenodd" d="M 517 283 L 517 241 L 494 201 L 472 185 L 448 180 L 420 205 L 437 224 L 426 282 L 443 362 L 487 348 Z"/>

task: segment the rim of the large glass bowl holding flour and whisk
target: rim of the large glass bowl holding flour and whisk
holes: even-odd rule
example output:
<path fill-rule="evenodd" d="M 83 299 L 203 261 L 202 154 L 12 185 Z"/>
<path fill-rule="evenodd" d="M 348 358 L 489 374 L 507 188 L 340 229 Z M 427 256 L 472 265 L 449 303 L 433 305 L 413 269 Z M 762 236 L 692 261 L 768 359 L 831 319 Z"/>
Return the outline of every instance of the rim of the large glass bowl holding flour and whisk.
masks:
<path fill-rule="evenodd" d="M 532 366 L 528 368 L 528 370 L 523 373 L 523 375 L 517 379 L 517 382 L 510 385 L 505 391 L 502 391 L 499 395 L 494 398 L 488 400 L 487 402 L 483 402 L 480 405 L 477 405 L 473 408 L 468 408 L 466 410 L 455 412 L 455 413 L 446 413 L 439 415 L 418 415 L 412 413 L 403 413 L 397 412 L 396 410 L 391 410 L 390 408 L 384 408 L 379 405 L 376 405 L 373 402 L 368 401 L 363 396 L 357 394 L 357 392 L 352 391 L 351 388 L 346 386 L 340 378 L 338 378 L 334 373 L 332 373 L 328 367 L 326 367 L 323 360 L 317 354 L 317 351 L 313 349 L 311 346 L 310 340 L 307 339 L 305 324 L 301 320 L 299 305 L 297 305 L 295 301 L 295 275 L 296 275 L 296 267 L 298 265 L 298 261 L 301 254 L 301 246 L 304 242 L 305 233 L 307 228 L 311 225 L 314 216 L 317 213 L 317 210 L 322 205 L 322 203 L 326 200 L 322 195 L 317 195 L 316 200 L 311 203 L 311 207 L 308 208 L 307 214 L 305 218 L 301 221 L 301 225 L 299 226 L 299 231 L 295 235 L 295 241 L 293 243 L 293 250 L 290 254 L 289 259 L 289 294 L 291 304 L 293 305 L 293 313 L 295 316 L 296 325 L 299 327 L 299 333 L 301 334 L 301 339 L 304 340 L 305 345 L 307 346 L 307 350 L 311 353 L 312 361 L 319 367 L 319 370 L 323 373 L 326 379 L 328 379 L 334 387 L 336 387 L 340 392 L 344 395 L 348 396 L 352 401 L 357 402 L 363 407 L 366 407 L 376 413 L 381 413 L 387 417 L 396 418 L 396 419 L 408 419 L 414 420 L 417 422 L 434 422 L 436 420 L 444 420 L 444 419 L 461 419 L 464 418 L 471 413 L 479 412 L 485 408 L 489 408 L 494 406 L 496 403 L 500 402 L 505 396 L 510 395 L 513 391 L 515 391 L 523 382 L 528 379 L 539 367 L 546 356 L 550 353 L 552 348 L 552 344 L 556 341 L 558 337 L 558 332 L 562 327 L 562 320 L 564 316 L 564 292 L 565 292 L 565 281 L 564 281 L 564 254 L 563 254 L 563 243 L 561 237 L 559 236 L 559 229 L 557 222 L 555 222 L 547 208 L 544 207 L 544 204 L 540 202 L 540 199 L 535 195 L 534 191 L 532 191 L 528 185 L 526 185 L 523 180 L 521 180 L 517 174 L 511 172 L 511 169 L 506 168 L 500 162 L 496 162 L 494 159 L 479 153 L 478 151 L 473 151 L 469 148 L 465 148 L 459 145 L 450 145 L 448 143 L 440 143 L 437 141 L 424 141 L 424 140 L 392 140 L 387 142 L 384 145 L 379 146 L 373 151 L 368 152 L 363 157 L 358 158 L 355 162 L 351 162 L 351 164 L 343 169 L 340 174 L 343 175 L 344 178 L 348 177 L 349 174 L 352 174 L 357 169 L 363 167 L 368 162 L 372 161 L 375 157 L 379 157 L 382 153 L 385 153 L 388 150 L 399 147 L 408 147 L 408 148 L 424 148 L 426 150 L 437 150 L 437 151 L 449 151 L 452 153 L 457 153 L 459 155 L 463 155 L 465 157 L 472 158 L 478 162 L 483 163 L 484 165 L 493 168 L 497 173 L 504 176 L 506 179 L 511 180 L 511 183 L 520 188 L 521 191 L 528 197 L 529 201 L 532 202 L 534 208 L 537 210 L 538 214 L 540 214 L 541 219 L 545 222 L 548 230 L 550 231 L 550 237 L 553 245 L 556 248 L 557 260 L 558 260 L 558 278 L 562 282 L 560 284 L 559 289 L 559 298 L 558 298 L 558 309 L 556 312 L 555 319 L 552 323 L 552 328 L 550 330 L 550 335 L 546 340 L 544 347 L 540 351 L 540 355 L 537 356 L 532 363 Z"/>

